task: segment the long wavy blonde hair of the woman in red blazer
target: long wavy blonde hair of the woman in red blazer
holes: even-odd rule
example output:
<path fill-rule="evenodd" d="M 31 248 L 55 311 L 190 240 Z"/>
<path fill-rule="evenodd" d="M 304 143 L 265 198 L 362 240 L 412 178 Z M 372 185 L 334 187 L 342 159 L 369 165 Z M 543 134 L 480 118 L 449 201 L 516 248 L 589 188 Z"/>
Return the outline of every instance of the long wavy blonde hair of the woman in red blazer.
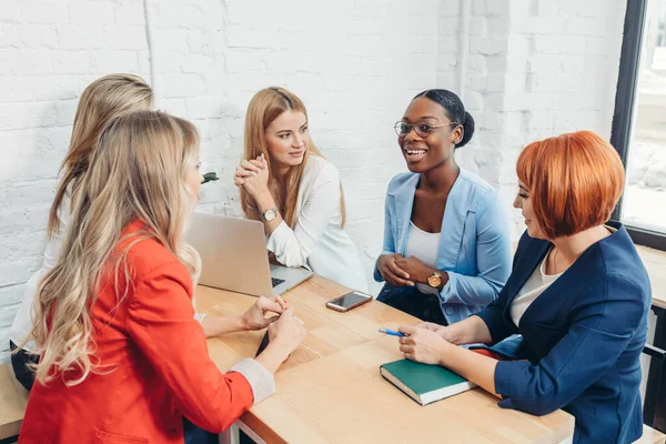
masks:
<path fill-rule="evenodd" d="M 135 111 L 112 120 L 100 135 L 88 173 L 72 200 L 62 255 L 41 281 L 31 337 L 42 353 L 37 381 L 61 374 L 68 385 L 98 370 L 91 307 L 102 280 L 115 286 L 117 303 L 128 294 L 131 248 L 158 240 L 196 281 L 200 259 L 183 231 L 195 199 L 185 184 L 196 162 L 199 137 L 182 119 Z M 132 221 L 142 228 L 122 235 Z"/>

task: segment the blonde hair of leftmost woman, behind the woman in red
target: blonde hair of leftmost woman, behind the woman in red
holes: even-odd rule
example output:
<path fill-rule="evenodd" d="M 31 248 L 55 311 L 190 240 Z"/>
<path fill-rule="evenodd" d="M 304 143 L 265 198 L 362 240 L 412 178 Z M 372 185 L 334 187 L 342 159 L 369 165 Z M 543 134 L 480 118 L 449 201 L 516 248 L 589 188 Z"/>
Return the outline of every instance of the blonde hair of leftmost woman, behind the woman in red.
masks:
<path fill-rule="evenodd" d="M 109 74 L 90 83 L 79 100 L 69 151 L 62 161 L 62 179 L 49 212 L 47 235 L 60 226 L 58 212 L 68 193 L 73 198 L 94 152 L 94 144 L 107 123 L 117 115 L 153 105 L 153 91 L 139 75 Z"/>

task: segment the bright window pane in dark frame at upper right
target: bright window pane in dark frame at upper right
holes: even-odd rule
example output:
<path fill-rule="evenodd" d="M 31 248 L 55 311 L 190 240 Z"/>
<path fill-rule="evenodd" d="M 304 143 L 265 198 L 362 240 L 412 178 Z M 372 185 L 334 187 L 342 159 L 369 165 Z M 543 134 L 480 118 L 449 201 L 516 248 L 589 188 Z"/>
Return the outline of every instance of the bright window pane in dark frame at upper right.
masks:
<path fill-rule="evenodd" d="M 666 232 L 666 0 L 645 16 L 622 221 Z"/>

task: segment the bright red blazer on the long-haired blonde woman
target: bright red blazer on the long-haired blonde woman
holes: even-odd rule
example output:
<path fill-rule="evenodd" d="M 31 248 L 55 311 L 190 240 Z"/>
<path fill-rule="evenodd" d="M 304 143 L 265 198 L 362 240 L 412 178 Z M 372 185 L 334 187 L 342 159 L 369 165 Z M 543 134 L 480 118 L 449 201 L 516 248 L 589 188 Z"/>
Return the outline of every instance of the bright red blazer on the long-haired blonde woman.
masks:
<path fill-rule="evenodd" d="M 185 266 L 153 239 L 131 248 L 128 265 L 127 297 L 118 304 L 110 279 L 92 306 L 98 372 L 69 387 L 36 382 L 20 443 L 182 443 L 182 415 L 221 432 L 252 406 L 245 377 L 209 357 Z"/>

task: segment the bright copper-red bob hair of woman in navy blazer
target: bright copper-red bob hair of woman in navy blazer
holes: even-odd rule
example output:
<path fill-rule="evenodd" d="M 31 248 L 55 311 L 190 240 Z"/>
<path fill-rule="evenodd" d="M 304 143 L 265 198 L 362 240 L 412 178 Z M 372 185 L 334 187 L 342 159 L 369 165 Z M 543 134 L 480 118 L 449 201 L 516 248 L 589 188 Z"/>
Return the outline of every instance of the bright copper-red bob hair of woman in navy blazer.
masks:
<path fill-rule="evenodd" d="M 625 183 L 619 155 L 592 131 L 528 144 L 516 172 L 529 190 L 536 220 L 548 239 L 608 221 Z"/>

